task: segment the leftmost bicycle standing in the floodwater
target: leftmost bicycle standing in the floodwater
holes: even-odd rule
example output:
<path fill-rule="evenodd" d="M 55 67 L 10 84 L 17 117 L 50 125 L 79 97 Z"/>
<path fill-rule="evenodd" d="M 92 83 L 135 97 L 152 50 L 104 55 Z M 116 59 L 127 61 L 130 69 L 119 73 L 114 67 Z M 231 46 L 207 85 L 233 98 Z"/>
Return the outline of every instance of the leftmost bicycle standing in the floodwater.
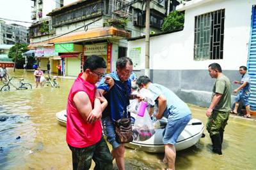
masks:
<path fill-rule="evenodd" d="M 24 78 L 19 78 L 19 87 L 13 85 L 12 79 L 15 78 L 12 76 L 11 78 L 8 78 L 8 81 L 5 82 L 5 85 L 0 89 L 1 92 L 3 91 L 9 91 L 10 87 L 14 87 L 16 90 L 25 90 L 25 89 L 32 89 L 32 85 L 30 83 L 24 83 L 22 82 Z"/>

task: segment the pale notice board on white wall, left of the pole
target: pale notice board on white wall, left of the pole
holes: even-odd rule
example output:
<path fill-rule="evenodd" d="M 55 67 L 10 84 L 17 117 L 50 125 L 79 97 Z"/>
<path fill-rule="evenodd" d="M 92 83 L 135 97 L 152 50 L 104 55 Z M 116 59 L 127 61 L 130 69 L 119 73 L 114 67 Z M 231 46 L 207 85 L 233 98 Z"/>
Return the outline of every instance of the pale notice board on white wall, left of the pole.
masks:
<path fill-rule="evenodd" d="M 131 58 L 134 70 L 141 69 L 141 47 L 131 48 L 129 50 L 129 58 Z"/>

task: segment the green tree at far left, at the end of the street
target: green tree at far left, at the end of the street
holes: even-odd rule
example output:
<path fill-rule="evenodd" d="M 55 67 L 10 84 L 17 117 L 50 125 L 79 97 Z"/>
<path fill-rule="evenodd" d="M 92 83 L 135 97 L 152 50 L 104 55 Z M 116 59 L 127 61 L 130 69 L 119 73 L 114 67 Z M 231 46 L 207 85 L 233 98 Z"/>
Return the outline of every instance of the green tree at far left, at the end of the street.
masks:
<path fill-rule="evenodd" d="M 12 48 L 10 48 L 10 51 L 8 53 L 8 57 L 10 59 L 13 60 L 13 62 L 15 61 L 15 55 L 16 55 L 16 48 L 17 48 L 17 43 L 12 46 Z M 22 69 L 23 68 L 23 64 L 25 64 L 25 58 L 22 57 L 21 53 L 22 52 L 26 52 L 26 50 L 28 50 L 28 45 L 26 44 L 20 44 L 18 46 L 18 53 L 17 53 L 17 59 L 16 59 L 16 68 L 17 69 Z M 28 64 L 27 64 L 27 68 L 30 69 L 33 65 L 33 63 L 35 62 L 35 57 L 28 57 Z"/>

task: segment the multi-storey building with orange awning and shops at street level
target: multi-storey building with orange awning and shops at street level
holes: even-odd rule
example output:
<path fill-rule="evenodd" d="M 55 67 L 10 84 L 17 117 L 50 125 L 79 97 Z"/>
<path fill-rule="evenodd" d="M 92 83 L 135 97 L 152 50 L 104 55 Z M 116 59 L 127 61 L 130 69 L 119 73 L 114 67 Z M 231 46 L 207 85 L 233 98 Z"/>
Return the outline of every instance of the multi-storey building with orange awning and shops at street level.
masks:
<path fill-rule="evenodd" d="M 161 32 L 166 1 L 152 1 L 150 10 L 150 31 Z M 145 34 L 143 1 L 75 1 L 52 10 L 47 16 L 31 25 L 29 48 L 36 50 L 41 67 L 46 67 L 46 60 L 50 60 L 52 69 L 61 64 L 67 76 L 77 76 L 84 59 L 91 55 L 104 57 L 108 72 L 114 71 L 116 60 L 127 56 L 125 39 Z M 43 30 L 44 25 L 48 29 Z M 54 48 L 49 57 L 43 54 L 45 46 Z"/>

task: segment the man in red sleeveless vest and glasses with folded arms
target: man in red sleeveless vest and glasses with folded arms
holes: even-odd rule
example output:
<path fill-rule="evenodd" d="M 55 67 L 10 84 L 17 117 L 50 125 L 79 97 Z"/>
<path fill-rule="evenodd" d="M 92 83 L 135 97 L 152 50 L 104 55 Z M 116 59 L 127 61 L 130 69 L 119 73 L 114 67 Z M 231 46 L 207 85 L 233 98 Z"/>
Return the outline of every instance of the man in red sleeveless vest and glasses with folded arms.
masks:
<path fill-rule="evenodd" d="M 67 143 L 72 151 L 73 169 L 113 169 L 112 156 L 102 137 L 100 118 L 108 105 L 96 90 L 104 75 L 106 62 L 102 57 L 92 56 L 84 62 L 68 95 Z"/>

